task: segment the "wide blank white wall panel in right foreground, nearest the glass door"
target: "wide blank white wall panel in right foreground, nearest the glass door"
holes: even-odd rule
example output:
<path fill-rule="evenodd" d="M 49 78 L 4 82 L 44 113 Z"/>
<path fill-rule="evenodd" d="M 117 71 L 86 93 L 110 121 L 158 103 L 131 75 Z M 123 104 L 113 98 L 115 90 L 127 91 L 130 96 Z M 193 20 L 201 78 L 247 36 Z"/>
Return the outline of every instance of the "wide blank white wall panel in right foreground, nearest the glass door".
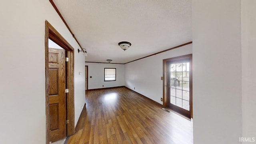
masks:
<path fill-rule="evenodd" d="M 240 0 L 192 0 L 194 144 L 242 136 Z"/>

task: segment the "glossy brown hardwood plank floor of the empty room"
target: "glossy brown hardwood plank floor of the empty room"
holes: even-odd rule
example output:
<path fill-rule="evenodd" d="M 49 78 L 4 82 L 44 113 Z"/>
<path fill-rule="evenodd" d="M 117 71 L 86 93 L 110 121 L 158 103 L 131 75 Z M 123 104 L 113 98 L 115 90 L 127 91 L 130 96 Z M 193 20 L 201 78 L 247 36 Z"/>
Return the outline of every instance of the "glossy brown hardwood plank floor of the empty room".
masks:
<path fill-rule="evenodd" d="M 192 122 L 129 90 L 91 90 L 68 144 L 193 144 Z"/>

